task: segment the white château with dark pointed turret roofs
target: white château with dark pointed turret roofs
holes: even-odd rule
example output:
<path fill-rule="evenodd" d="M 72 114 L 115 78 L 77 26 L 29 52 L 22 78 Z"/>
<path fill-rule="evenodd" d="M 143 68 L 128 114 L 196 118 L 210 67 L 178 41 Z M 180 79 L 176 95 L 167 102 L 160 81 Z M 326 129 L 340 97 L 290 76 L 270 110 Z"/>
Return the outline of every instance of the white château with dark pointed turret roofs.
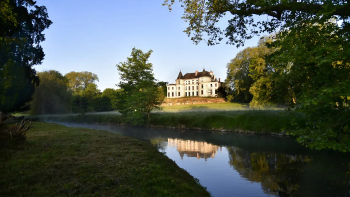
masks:
<path fill-rule="evenodd" d="M 213 72 L 203 69 L 202 72 L 196 70 L 195 73 L 182 75 L 181 70 L 175 84 L 167 86 L 167 98 L 180 98 L 185 96 L 216 97 L 217 89 L 222 86 L 222 82 L 216 80 Z"/>

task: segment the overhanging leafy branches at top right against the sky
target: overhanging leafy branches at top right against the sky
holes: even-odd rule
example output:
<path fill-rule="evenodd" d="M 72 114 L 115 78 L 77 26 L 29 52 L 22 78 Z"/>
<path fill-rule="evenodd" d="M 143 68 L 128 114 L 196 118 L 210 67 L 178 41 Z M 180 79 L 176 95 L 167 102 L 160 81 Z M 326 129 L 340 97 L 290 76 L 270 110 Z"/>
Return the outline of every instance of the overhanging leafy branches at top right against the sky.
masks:
<path fill-rule="evenodd" d="M 165 0 L 172 10 L 176 0 Z M 288 29 L 302 22 L 324 22 L 336 17 L 349 30 L 350 6 L 339 0 L 179 0 L 184 8 L 182 19 L 189 26 L 184 30 L 196 44 L 207 41 L 218 44 L 225 35 L 227 43 L 243 46 L 244 41 L 261 33 Z M 222 30 L 217 23 L 228 14 L 228 26 Z M 255 16 L 261 17 L 257 20 Z M 259 18 L 258 18 L 259 19 Z M 205 38 L 204 35 L 208 35 Z"/>

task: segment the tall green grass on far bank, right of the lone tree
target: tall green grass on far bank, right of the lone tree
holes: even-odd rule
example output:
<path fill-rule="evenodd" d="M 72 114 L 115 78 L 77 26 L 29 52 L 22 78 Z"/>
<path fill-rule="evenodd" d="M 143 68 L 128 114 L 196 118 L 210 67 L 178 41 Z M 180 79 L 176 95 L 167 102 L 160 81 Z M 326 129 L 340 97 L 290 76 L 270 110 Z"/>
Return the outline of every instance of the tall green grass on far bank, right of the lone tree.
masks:
<path fill-rule="evenodd" d="M 299 114 L 286 114 L 275 110 L 213 111 L 154 113 L 149 125 L 166 125 L 186 128 L 202 128 L 232 131 L 253 131 L 254 133 L 279 133 L 294 129 L 290 123 L 295 120 L 303 124 Z"/>

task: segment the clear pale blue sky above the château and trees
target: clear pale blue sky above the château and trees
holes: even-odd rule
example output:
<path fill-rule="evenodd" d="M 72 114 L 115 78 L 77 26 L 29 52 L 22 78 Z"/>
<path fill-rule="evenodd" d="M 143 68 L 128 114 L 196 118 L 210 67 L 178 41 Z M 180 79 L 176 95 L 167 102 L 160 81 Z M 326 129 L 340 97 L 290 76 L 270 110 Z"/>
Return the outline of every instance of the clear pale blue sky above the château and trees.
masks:
<path fill-rule="evenodd" d="M 173 83 L 179 73 L 212 70 L 222 80 L 226 64 L 244 47 L 194 45 L 182 31 L 187 27 L 183 8 L 169 13 L 163 0 L 37 0 L 45 5 L 53 24 L 42 43 L 45 59 L 38 72 L 55 69 L 62 74 L 89 71 L 98 75 L 98 88 L 117 88 L 116 64 L 130 56 L 133 47 L 153 50 L 149 62 L 155 78 Z M 227 20 L 221 25 L 225 27 Z M 256 46 L 258 37 L 245 42 Z"/>

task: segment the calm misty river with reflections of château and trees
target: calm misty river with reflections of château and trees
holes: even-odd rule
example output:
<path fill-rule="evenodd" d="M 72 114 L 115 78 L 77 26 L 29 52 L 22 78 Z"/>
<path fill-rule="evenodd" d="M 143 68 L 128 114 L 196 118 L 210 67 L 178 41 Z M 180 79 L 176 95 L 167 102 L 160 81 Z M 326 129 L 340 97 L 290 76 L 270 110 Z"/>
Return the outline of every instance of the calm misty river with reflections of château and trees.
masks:
<path fill-rule="evenodd" d="M 310 151 L 287 137 L 59 123 L 155 145 L 214 197 L 350 196 L 350 155 Z"/>

